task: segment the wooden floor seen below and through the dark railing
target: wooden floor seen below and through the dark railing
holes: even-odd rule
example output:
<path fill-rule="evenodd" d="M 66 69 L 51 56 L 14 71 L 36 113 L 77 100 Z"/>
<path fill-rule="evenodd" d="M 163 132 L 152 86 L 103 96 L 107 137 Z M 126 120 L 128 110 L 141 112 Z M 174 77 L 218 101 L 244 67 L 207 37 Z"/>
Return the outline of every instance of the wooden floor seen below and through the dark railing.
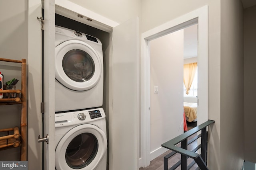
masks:
<path fill-rule="evenodd" d="M 189 123 L 188 124 L 188 130 L 192 129 L 193 127 L 197 126 L 197 122 L 194 123 Z M 195 137 L 196 134 L 192 135 L 191 137 L 188 138 L 192 139 L 193 137 Z M 179 146 L 180 144 L 178 144 L 177 146 Z M 192 150 L 197 146 L 197 141 L 194 141 L 193 143 L 191 143 L 190 145 L 188 145 L 188 150 Z M 140 170 L 163 170 L 164 169 L 164 156 L 166 156 L 168 153 L 172 152 L 171 150 L 168 150 L 167 152 L 164 152 L 163 154 L 161 154 L 160 156 L 158 156 L 157 158 L 155 158 L 154 160 L 150 161 L 150 165 L 147 166 L 146 168 L 140 168 Z M 170 157 L 168 159 L 168 168 L 170 168 L 171 166 L 173 166 L 176 162 L 178 162 L 180 160 L 180 154 L 176 153 L 174 154 L 172 157 Z M 188 164 L 192 162 L 191 158 L 188 158 Z M 190 170 L 195 170 L 198 166 L 195 164 Z M 180 166 L 178 168 L 176 168 L 176 170 L 180 170 Z"/>

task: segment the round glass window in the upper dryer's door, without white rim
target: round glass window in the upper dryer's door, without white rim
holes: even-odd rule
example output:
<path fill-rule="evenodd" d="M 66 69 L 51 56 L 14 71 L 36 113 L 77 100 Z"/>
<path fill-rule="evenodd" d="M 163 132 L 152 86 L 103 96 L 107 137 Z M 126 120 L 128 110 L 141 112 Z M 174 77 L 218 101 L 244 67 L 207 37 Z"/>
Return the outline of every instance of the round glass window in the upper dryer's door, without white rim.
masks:
<path fill-rule="evenodd" d="M 80 49 L 73 49 L 64 55 L 62 67 L 65 74 L 76 82 L 86 82 L 92 78 L 95 64 L 92 57 Z"/>

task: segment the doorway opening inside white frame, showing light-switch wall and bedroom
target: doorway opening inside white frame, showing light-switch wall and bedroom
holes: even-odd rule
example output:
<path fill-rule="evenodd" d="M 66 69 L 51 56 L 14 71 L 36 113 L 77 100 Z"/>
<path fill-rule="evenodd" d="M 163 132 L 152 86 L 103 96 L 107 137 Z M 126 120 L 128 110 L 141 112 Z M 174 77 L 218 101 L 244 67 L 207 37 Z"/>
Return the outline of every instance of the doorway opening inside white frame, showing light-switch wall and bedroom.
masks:
<path fill-rule="evenodd" d="M 150 41 L 150 160 L 166 151 L 160 147 L 163 141 L 183 133 L 183 108 L 189 125 L 197 121 L 197 114 L 190 109 L 197 109 L 197 103 L 192 103 L 197 102 L 197 75 L 186 90 L 185 78 L 191 77 L 183 74 L 192 63 L 196 68 L 193 74 L 197 70 L 197 25 Z"/>

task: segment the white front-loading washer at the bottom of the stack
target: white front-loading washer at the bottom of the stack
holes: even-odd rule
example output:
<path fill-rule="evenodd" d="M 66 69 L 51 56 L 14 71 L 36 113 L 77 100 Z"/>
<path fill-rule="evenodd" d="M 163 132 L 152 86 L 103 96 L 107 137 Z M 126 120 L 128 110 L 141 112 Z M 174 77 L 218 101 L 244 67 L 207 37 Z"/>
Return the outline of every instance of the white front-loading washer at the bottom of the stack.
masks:
<path fill-rule="evenodd" d="M 55 114 L 56 170 L 106 170 L 105 117 L 102 108 Z"/>

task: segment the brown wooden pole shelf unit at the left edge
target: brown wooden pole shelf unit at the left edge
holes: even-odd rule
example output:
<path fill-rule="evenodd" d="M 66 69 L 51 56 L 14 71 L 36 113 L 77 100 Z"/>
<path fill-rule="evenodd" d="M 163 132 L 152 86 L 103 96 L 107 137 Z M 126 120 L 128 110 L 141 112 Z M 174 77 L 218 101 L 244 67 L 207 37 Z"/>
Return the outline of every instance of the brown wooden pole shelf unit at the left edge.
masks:
<path fill-rule="evenodd" d="M 20 113 L 20 160 L 27 160 L 27 150 L 28 150 L 28 129 L 27 129 L 27 119 L 28 119 L 28 113 L 27 113 L 27 77 L 26 77 L 26 59 L 20 60 L 12 60 L 12 59 L 4 59 L 0 58 L 0 61 L 5 62 L 11 62 L 11 63 L 20 63 L 21 64 L 21 91 L 20 90 L 2 90 L 1 93 L 16 93 L 21 94 L 21 98 L 3 98 L 0 99 L 0 105 L 12 105 L 12 104 L 21 104 L 21 113 Z M 18 96 L 18 95 L 17 95 Z M 1 115 L 0 115 L 1 116 Z M 14 129 L 15 128 L 15 129 Z M 0 129 L 0 131 L 14 131 L 14 134 L 17 133 L 16 127 L 9 128 L 9 129 Z M 0 137 L 0 139 L 10 139 L 13 137 Z M 15 136 L 17 137 L 17 135 Z M 15 138 L 14 138 L 15 139 Z M 15 141 L 14 141 L 15 143 Z M 1 144 L 0 144 L 1 145 Z M 3 144 L 4 145 L 4 144 Z M 3 146 L 2 148 L 9 148 L 10 146 Z M 11 147 L 18 147 L 18 143 L 16 143 L 14 146 Z M 1 148 L 1 146 L 0 146 Z"/>

